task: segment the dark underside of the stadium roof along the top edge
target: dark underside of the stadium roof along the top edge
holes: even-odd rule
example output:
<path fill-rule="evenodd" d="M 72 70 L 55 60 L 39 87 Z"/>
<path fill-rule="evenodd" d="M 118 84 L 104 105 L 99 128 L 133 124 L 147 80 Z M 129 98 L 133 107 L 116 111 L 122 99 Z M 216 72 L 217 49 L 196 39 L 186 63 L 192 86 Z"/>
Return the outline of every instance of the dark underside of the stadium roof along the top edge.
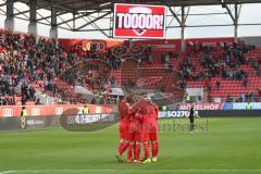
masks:
<path fill-rule="evenodd" d="M 30 0 L 15 0 L 15 2 L 23 2 L 29 4 Z M 146 4 L 164 4 L 171 7 L 182 5 L 222 5 L 234 3 L 261 3 L 261 0 L 114 0 L 115 3 L 146 3 Z M 108 10 L 112 9 L 111 0 L 37 0 L 37 7 L 39 9 L 50 10 L 51 7 L 58 8 L 60 11 L 67 11 L 71 13 L 77 13 L 78 11 L 87 10 Z"/>

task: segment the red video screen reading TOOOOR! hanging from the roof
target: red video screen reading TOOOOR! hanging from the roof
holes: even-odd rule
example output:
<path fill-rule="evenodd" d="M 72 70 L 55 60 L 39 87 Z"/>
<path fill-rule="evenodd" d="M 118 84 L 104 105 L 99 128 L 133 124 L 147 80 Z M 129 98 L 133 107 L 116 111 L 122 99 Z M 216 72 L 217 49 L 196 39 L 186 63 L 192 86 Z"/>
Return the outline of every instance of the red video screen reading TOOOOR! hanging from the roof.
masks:
<path fill-rule="evenodd" d="M 114 4 L 113 37 L 165 38 L 166 7 L 149 4 Z"/>

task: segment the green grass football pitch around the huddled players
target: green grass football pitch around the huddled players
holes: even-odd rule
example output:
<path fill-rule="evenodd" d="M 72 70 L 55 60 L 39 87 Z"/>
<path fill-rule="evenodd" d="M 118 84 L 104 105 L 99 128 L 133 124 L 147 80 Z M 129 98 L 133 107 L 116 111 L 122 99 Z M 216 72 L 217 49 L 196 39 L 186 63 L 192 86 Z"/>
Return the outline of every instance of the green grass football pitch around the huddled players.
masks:
<path fill-rule="evenodd" d="M 0 133 L 0 174 L 261 173 L 261 119 L 209 119 L 209 132 L 161 133 L 160 154 L 152 164 L 117 163 L 117 125 L 96 133 Z"/>

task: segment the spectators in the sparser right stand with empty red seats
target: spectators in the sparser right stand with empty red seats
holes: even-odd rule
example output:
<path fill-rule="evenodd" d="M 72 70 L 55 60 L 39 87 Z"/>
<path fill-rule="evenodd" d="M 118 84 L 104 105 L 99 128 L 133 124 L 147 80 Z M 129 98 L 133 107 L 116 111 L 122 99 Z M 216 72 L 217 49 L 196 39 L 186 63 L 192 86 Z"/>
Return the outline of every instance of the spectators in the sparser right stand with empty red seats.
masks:
<path fill-rule="evenodd" d="M 249 87 L 248 72 L 244 69 L 251 65 L 254 74 L 260 76 L 261 58 L 253 59 L 249 57 L 249 52 L 254 50 L 256 47 L 246 45 L 243 41 L 238 44 L 216 44 L 203 46 L 201 42 L 188 45 L 188 51 L 184 61 L 181 63 L 178 82 L 186 80 L 204 80 L 204 87 L 209 92 L 212 90 L 211 78 L 221 77 L 229 80 L 240 80 L 244 87 Z M 197 62 L 194 64 L 191 58 L 197 58 Z M 201 66 L 202 69 L 198 69 Z M 201 71 L 199 71 L 201 70 Z M 221 82 L 215 82 L 215 88 L 220 89 Z M 236 101 L 256 101 L 256 98 L 260 96 L 260 92 L 243 94 Z M 208 97 L 209 101 L 212 98 Z M 227 96 L 226 101 L 232 101 L 233 97 Z"/>

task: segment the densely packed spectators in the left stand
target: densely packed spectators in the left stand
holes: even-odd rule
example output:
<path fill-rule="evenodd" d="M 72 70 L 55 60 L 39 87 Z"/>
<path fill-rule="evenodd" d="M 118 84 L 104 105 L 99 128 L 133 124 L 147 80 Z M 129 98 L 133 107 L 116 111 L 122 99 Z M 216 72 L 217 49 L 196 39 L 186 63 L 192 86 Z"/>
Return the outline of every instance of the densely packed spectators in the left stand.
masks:
<path fill-rule="evenodd" d="M 114 86 L 115 79 L 108 77 L 109 69 L 100 70 L 97 64 L 88 63 L 88 59 L 102 59 L 109 67 L 119 69 L 117 61 L 109 60 L 110 53 L 96 54 L 94 50 L 78 54 L 73 49 L 66 52 L 55 40 L 36 40 L 32 35 L 0 30 L 0 104 L 15 104 L 17 96 L 22 104 L 37 103 L 39 100 L 32 84 L 39 80 L 44 82 L 48 95 L 69 99 L 71 94 L 55 85 L 57 77 L 69 85 L 89 84 L 88 87 L 99 86 L 100 90 L 108 84 Z"/>

